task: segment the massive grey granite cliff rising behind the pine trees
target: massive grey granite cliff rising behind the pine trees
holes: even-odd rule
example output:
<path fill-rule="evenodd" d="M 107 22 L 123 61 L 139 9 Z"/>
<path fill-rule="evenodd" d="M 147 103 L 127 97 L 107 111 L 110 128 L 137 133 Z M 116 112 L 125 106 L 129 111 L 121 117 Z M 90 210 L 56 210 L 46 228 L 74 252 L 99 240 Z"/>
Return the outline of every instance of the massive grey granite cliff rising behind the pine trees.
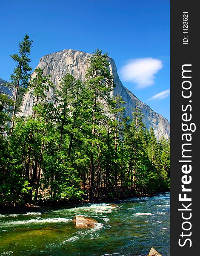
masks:
<path fill-rule="evenodd" d="M 92 54 L 86 52 L 80 52 L 76 50 L 66 50 L 62 52 L 55 52 L 49 55 L 45 55 L 40 58 L 40 63 L 37 67 L 40 67 L 44 71 L 44 75 L 51 75 L 51 81 L 54 83 L 55 88 L 50 88 L 47 93 L 50 101 L 54 101 L 54 90 L 56 90 L 57 84 L 60 83 L 61 78 L 67 73 L 74 76 L 75 79 L 80 79 L 85 81 L 86 70 L 89 67 L 88 59 Z M 131 91 L 121 83 L 119 76 L 117 74 L 117 68 L 115 66 L 114 60 L 108 58 L 109 70 L 112 76 L 114 76 L 115 88 L 111 92 L 111 95 L 119 94 L 122 96 L 123 100 L 126 102 L 126 116 L 132 116 L 131 108 L 135 108 L 135 103 L 137 102 L 138 108 L 140 108 L 144 114 L 143 122 L 146 128 L 150 129 L 152 126 L 155 131 L 155 136 L 159 140 L 162 136 L 170 137 L 170 124 L 166 118 L 160 116 L 158 113 L 154 112 L 148 105 L 141 102 Z M 34 76 L 34 74 L 33 74 Z M 31 113 L 31 95 L 27 93 L 24 97 L 23 105 L 21 108 L 20 115 L 28 116 Z"/>

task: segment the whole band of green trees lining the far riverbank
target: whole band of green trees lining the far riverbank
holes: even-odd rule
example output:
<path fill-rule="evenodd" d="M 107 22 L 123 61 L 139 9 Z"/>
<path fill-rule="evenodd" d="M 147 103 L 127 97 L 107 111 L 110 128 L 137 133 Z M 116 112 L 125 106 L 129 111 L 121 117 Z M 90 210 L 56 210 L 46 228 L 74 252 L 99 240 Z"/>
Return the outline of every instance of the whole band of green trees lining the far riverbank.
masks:
<path fill-rule="evenodd" d="M 0 204 L 75 202 L 125 198 L 169 189 L 170 141 L 157 142 L 137 105 L 125 117 L 107 54 L 97 49 L 86 81 L 67 74 L 55 90 L 37 68 L 31 75 L 32 41 L 26 35 L 11 75 L 12 99 L 0 93 Z M 25 92 L 32 112 L 20 116 Z"/>

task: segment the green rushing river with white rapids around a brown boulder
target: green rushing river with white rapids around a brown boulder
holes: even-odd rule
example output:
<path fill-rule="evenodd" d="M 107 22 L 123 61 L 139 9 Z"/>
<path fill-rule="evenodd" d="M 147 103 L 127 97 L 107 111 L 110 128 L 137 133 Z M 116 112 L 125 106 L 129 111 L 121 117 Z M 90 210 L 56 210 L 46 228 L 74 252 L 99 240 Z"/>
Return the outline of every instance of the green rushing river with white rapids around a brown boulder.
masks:
<path fill-rule="evenodd" d="M 151 247 L 170 255 L 169 193 L 110 204 L 35 207 L 24 214 L 0 215 L 0 255 L 143 256 Z M 95 218 L 98 224 L 77 229 L 75 215 Z"/>

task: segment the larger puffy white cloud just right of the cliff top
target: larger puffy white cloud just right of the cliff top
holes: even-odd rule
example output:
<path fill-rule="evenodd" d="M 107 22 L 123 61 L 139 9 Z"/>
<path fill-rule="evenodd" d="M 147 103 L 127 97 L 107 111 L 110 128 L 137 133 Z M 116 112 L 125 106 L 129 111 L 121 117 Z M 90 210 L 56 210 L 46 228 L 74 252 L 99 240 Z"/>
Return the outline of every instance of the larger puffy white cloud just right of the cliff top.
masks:
<path fill-rule="evenodd" d="M 154 58 L 137 58 L 130 60 L 120 70 L 123 81 L 136 83 L 142 89 L 154 84 L 154 75 L 163 67 L 162 61 Z"/>

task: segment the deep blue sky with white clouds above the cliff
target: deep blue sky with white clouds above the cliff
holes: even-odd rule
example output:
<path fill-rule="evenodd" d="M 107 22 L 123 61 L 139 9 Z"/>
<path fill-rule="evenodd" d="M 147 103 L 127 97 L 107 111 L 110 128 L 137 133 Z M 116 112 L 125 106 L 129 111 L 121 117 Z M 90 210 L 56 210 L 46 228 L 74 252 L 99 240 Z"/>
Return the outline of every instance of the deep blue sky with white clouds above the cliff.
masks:
<path fill-rule="evenodd" d="M 9 80 L 10 58 L 26 33 L 33 40 L 31 67 L 63 49 L 114 59 L 123 84 L 170 120 L 169 0 L 7 0 L 1 2 L 0 77 Z"/>

